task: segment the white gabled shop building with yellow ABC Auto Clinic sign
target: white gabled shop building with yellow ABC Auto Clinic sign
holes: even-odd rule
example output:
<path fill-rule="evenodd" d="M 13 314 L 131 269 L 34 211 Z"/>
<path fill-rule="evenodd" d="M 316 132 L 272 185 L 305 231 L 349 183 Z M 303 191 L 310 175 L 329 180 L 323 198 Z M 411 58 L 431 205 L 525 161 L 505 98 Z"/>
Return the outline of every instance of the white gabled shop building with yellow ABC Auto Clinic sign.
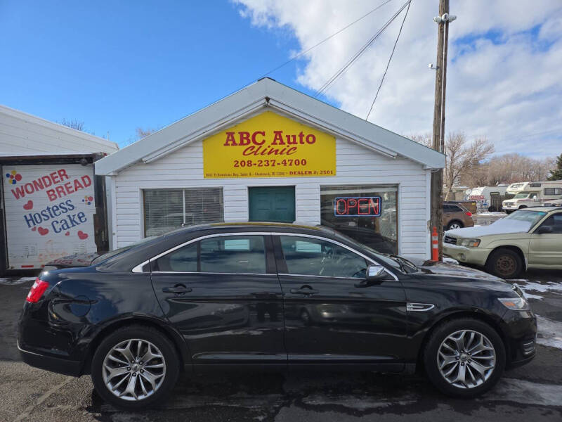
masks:
<path fill-rule="evenodd" d="M 445 156 L 261 79 L 96 162 L 113 246 L 183 224 L 326 224 L 429 257 L 431 171 Z"/>

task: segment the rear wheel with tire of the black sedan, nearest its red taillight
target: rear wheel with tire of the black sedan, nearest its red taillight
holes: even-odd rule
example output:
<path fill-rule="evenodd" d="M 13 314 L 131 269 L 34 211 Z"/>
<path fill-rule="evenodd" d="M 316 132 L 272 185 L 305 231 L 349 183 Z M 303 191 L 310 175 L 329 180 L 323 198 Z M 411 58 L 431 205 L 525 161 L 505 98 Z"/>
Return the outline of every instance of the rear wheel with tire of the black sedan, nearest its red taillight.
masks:
<path fill-rule="evenodd" d="M 125 359 L 127 356 L 130 359 Z M 148 360 L 141 362 L 143 356 Z M 127 360 L 129 366 L 124 365 Z M 98 395 L 106 402 L 121 409 L 145 409 L 169 397 L 178 380 L 179 362 L 166 335 L 148 326 L 126 326 L 98 345 L 93 354 L 91 378 Z M 116 375 L 112 376 L 112 371 Z"/>

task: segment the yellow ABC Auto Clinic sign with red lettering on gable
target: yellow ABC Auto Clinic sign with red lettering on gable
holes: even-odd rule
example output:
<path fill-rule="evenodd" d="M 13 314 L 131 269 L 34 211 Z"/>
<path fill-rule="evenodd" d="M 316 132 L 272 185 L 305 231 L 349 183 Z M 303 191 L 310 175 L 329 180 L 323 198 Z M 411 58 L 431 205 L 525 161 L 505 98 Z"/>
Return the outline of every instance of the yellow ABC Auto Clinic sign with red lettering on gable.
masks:
<path fill-rule="evenodd" d="M 205 179 L 336 175 L 336 139 L 266 111 L 203 141 Z"/>

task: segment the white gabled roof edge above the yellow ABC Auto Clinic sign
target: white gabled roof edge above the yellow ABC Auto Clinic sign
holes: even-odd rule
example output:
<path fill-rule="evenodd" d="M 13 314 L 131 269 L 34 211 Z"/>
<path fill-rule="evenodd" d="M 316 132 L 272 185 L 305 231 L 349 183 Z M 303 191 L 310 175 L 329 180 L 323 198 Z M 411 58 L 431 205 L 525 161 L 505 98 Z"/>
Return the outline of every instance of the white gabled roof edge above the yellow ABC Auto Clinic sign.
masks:
<path fill-rule="evenodd" d="M 270 78 L 231 94 L 96 162 L 96 174 L 115 175 L 137 162 L 152 162 L 263 111 L 276 111 L 391 158 L 427 169 L 445 167 L 445 155 L 383 129 Z"/>

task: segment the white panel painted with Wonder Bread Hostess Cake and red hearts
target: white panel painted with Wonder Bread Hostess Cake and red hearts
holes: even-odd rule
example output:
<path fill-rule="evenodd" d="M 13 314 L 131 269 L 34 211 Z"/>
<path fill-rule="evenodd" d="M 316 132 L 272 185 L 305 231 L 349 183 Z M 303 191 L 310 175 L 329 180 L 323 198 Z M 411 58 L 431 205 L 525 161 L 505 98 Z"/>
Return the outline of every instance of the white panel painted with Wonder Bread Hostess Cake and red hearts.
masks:
<path fill-rule="evenodd" d="M 92 165 L 5 165 L 2 172 L 9 269 L 96 252 Z"/>

